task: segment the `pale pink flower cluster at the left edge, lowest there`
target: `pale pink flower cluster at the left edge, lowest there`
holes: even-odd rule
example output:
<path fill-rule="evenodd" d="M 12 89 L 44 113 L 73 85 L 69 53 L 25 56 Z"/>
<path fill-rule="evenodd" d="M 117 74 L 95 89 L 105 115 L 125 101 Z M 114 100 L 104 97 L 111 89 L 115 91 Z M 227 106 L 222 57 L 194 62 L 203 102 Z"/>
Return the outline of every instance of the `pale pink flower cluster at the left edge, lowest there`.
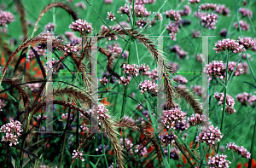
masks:
<path fill-rule="evenodd" d="M 20 121 L 11 120 L 8 124 L 1 126 L 0 132 L 4 132 L 5 136 L 3 136 L 2 142 L 10 142 L 9 146 L 13 144 L 18 144 L 18 137 L 22 132 Z"/>

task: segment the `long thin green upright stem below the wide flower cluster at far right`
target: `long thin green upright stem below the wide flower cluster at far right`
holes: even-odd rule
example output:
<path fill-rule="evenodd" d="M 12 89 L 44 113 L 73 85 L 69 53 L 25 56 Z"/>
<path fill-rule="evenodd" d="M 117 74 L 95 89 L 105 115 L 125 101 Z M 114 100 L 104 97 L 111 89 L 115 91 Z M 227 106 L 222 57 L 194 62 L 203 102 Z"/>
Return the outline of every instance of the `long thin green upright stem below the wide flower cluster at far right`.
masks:
<path fill-rule="evenodd" d="M 224 113 L 225 113 L 225 107 L 226 107 L 226 99 L 227 99 L 227 89 L 228 89 L 228 70 L 229 70 L 229 61 L 230 61 L 230 53 L 227 52 L 227 66 L 226 66 L 226 76 L 225 76 L 225 87 L 224 87 L 224 102 L 223 102 L 223 111 L 222 111 L 222 117 L 221 117 L 221 124 L 220 124 L 220 132 L 222 132 L 224 127 Z M 217 152 L 219 151 L 220 142 L 218 142 Z"/>

